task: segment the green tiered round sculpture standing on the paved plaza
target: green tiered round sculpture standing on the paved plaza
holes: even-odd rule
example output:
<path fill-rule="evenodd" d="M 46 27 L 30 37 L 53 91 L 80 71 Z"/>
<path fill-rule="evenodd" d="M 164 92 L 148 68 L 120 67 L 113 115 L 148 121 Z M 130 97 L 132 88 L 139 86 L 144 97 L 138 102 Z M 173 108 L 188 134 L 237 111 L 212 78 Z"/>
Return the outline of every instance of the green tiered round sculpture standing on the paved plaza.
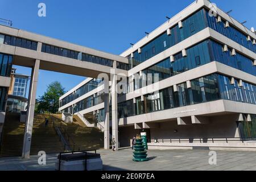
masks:
<path fill-rule="evenodd" d="M 133 146 L 134 147 L 134 152 L 133 152 L 133 161 L 136 162 L 143 162 L 147 161 L 147 151 L 145 150 L 145 146 L 142 142 L 142 139 L 135 139 L 136 144 Z"/>

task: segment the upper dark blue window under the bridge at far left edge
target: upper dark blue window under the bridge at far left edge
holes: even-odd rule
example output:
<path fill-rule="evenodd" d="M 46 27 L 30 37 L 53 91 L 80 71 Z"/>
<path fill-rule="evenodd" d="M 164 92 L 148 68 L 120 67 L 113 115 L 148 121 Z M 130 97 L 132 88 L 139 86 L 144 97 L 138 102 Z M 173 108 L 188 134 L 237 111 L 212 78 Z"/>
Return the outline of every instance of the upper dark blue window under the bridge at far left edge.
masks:
<path fill-rule="evenodd" d="M 0 53 L 0 76 L 10 77 L 13 56 Z"/>

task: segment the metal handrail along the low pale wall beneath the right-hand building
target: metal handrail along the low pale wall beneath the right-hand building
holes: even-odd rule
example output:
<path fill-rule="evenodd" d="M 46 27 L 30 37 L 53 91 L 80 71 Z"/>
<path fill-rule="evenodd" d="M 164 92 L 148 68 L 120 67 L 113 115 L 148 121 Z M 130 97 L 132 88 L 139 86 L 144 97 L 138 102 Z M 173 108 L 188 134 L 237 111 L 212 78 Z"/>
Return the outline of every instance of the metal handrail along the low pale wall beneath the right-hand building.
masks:
<path fill-rule="evenodd" d="M 212 141 L 212 143 L 214 142 L 232 142 L 232 141 L 241 141 L 242 143 L 246 142 L 246 141 L 256 141 L 255 137 L 247 137 L 247 138 L 240 138 L 240 137 L 233 137 L 233 138 L 227 138 L 227 137 L 210 137 L 210 138 L 171 138 L 171 139 L 151 139 L 151 142 L 155 142 L 155 143 L 164 143 L 164 142 L 191 142 L 191 140 L 193 142 L 200 142 L 200 143 L 204 143 L 204 140 L 207 140 L 207 142 Z M 161 141 L 161 142 L 159 142 Z"/>

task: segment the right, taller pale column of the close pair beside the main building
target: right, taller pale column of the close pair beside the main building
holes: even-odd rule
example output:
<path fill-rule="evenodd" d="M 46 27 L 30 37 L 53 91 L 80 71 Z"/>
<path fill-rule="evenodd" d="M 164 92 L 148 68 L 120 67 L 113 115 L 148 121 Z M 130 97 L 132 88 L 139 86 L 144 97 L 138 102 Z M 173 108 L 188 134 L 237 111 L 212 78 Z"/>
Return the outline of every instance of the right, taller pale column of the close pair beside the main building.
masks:
<path fill-rule="evenodd" d="M 112 138 L 115 138 L 115 150 L 118 150 L 118 118 L 117 118 L 117 75 L 113 75 L 111 98 L 112 98 Z"/>

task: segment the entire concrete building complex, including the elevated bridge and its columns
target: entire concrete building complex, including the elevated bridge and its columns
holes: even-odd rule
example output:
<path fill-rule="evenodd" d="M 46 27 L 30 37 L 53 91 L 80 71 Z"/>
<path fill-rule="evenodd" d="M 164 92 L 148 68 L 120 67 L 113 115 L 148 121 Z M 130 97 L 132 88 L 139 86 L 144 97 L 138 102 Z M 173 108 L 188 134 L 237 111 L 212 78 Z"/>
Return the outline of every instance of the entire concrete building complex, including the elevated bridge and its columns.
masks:
<path fill-rule="evenodd" d="M 192 3 L 119 56 L 0 26 L 4 65 L 32 68 L 23 156 L 30 154 L 39 69 L 90 77 L 60 98 L 59 111 L 88 126 L 97 121 L 105 148 L 110 137 L 130 146 L 144 130 L 150 148 L 255 150 L 244 140 L 256 138 L 256 35 L 218 8 L 210 14 L 211 7 Z M 236 141 L 226 144 L 230 138 Z"/>

